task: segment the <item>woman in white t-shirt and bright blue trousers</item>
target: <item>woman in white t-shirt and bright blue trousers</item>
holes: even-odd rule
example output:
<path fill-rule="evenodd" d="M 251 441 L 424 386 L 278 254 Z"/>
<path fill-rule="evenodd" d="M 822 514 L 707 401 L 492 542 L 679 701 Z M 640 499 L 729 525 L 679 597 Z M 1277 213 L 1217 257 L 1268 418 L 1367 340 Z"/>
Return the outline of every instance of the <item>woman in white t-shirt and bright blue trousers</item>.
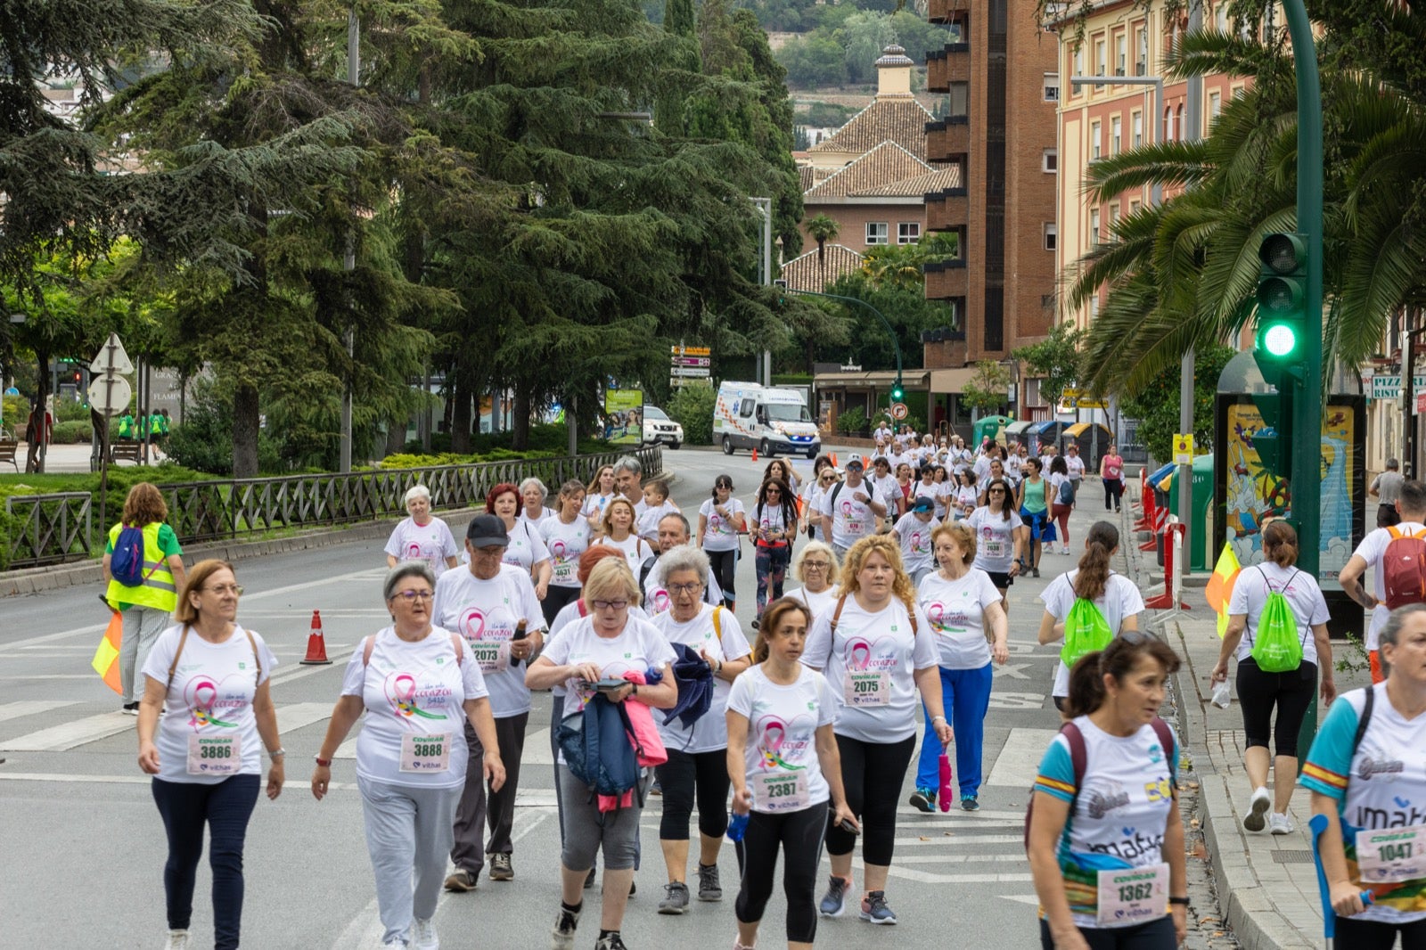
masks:
<path fill-rule="evenodd" d="M 985 745 L 985 713 L 990 712 L 991 660 L 1005 665 L 1008 623 L 1000 591 L 975 562 L 975 532 L 970 525 L 941 525 L 931 532 L 940 571 L 927 575 L 917 588 L 917 601 L 935 632 L 941 653 L 941 705 L 951 713 L 955 730 L 955 779 L 961 809 L 980 810 L 981 752 Z M 985 636 L 987 629 L 990 638 Z M 925 739 L 915 769 L 911 805 L 935 810 L 940 789 L 941 750 L 931 736 L 930 713 Z"/>

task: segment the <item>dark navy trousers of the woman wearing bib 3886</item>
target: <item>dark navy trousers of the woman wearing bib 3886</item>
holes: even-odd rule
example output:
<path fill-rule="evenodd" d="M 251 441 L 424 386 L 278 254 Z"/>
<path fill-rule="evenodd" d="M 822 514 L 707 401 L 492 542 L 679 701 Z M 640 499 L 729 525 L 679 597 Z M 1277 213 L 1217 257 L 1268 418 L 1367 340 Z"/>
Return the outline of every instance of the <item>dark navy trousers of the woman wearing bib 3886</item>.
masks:
<path fill-rule="evenodd" d="M 187 930 L 193 917 L 193 889 L 202 857 L 202 826 L 212 844 L 212 931 L 215 950 L 235 950 L 242 923 L 242 843 L 258 802 L 262 776 L 235 775 L 215 785 L 154 779 L 154 803 L 168 833 L 164 893 L 168 929 Z"/>

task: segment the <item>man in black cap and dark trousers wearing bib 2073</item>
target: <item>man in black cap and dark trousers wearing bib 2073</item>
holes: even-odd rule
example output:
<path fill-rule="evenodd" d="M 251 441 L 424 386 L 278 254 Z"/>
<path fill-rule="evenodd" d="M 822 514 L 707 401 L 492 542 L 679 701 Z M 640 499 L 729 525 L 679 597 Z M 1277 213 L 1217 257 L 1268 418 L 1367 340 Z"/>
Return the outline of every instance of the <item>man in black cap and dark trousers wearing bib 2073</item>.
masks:
<path fill-rule="evenodd" d="M 471 563 L 465 571 L 446 571 L 441 575 L 431 609 L 436 626 L 466 638 L 471 655 L 481 665 L 485 686 L 491 690 L 495 736 L 505 762 L 505 785 L 486 796 L 481 769 L 485 747 L 466 723 L 465 739 L 471 747 L 471 759 L 465 790 L 455 812 L 455 847 L 451 849 L 455 873 L 445 882 L 446 890 L 453 892 L 475 890 L 486 852 L 491 854 L 491 880 L 515 877 L 511 830 L 515 824 L 525 726 L 530 716 L 530 690 L 525 685 L 522 662 L 543 646 L 545 612 L 529 572 L 502 563 L 509 543 L 511 536 L 498 515 L 472 518 L 465 532 Z M 516 639 L 520 629 L 525 636 Z M 483 840 L 486 817 L 491 826 L 488 844 Z"/>

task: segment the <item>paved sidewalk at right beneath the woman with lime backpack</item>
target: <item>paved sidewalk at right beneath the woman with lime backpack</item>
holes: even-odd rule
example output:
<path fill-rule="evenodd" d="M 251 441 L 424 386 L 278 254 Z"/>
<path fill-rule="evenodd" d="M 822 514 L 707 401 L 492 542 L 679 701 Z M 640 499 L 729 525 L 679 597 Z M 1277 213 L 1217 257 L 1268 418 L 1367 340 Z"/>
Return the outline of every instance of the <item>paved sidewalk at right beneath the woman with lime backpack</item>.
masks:
<path fill-rule="evenodd" d="M 1132 516 L 1128 505 L 1124 511 L 1128 532 Z M 1135 535 L 1127 533 L 1129 536 Z M 1148 576 L 1158 571 L 1154 552 L 1141 552 L 1138 542 L 1127 541 L 1124 546 L 1147 598 Z M 1221 645 L 1216 615 L 1208 608 L 1201 588 L 1185 589 L 1184 602 L 1191 608 L 1186 613 L 1159 625 L 1151 622 L 1149 626 L 1162 633 L 1184 659 L 1176 676 L 1179 730 L 1201 783 L 1205 844 L 1225 923 L 1248 950 L 1322 947 L 1322 904 L 1308 837 L 1308 819 L 1312 816 L 1309 795 L 1298 789 L 1292 796 L 1289 816 L 1296 826 L 1292 834 L 1251 834 L 1243 830 L 1239 816 L 1248 810 L 1252 789 L 1243 770 L 1242 713 L 1236 695 L 1228 709 L 1209 703 L 1212 688 L 1208 678 L 1218 663 Z M 1149 618 L 1152 615 L 1151 611 Z M 1346 648 L 1345 640 L 1333 640 L 1333 660 L 1346 655 Z M 1338 693 L 1370 682 L 1365 669 L 1338 672 L 1335 676 Z M 1325 715 L 1326 710 L 1319 708 L 1319 723 Z M 1298 752 L 1306 756 L 1308 750 Z"/>

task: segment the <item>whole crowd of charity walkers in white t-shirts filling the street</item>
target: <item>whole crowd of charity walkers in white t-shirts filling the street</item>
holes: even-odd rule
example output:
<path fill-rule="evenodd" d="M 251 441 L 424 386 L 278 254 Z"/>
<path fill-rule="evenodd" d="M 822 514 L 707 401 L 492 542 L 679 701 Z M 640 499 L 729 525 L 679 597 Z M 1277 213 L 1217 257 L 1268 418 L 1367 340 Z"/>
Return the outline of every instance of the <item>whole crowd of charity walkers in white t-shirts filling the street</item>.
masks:
<path fill-rule="evenodd" d="M 582 920 L 597 950 L 625 947 L 650 793 L 660 796 L 667 873 L 657 913 L 723 899 L 717 859 L 729 837 L 740 869 L 734 950 L 757 943 L 779 860 L 789 947 L 811 947 L 819 917 L 848 910 L 897 923 L 887 876 L 913 759 L 911 806 L 980 807 L 1010 588 L 1038 576 L 1042 555 L 1070 553 L 1070 506 L 1097 502 L 1078 494 L 1085 471 L 1072 445 L 1068 458 L 1040 458 L 1024 446 L 881 435 L 871 472 L 861 459 L 838 469 L 823 456 L 801 479 L 774 459 L 746 504 L 720 475 L 696 528 L 633 458 L 588 485 L 560 485 L 550 505 L 536 479 L 495 486 L 463 543 L 424 486 L 406 494 L 409 518 L 385 549 L 392 622 L 352 652 L 311 776 L 321 800 L 338 747 L 362 720 L 355 777 L 385 944 L 438 947 L 442 887 L 473 890 L 482 872 L 515 877 L 525 732 L 532 695 L 546 689 L 562 842 L 553 950 L 575 946 Z M 1124 462 L 1112 446 L 1099 478 L 1105 511 L 1118 511 Z M 1417 566 L 1415 601 L 1402 601 L 1410 578 L 1393 565 L 1406 552 L 1426 563 L 1426 485 L 1383 489 L 1400 523 L 1369 533 L 1342 572 L 1372 611 L 1376 685 L 1333 703 L 1323 596 L 1295 569 L 1296 535 L 1281 521 L 1263 531 L 1262 563 L 1235 585 L 1212 676 L 1226 680 L 1236 659 L 1253 783 L 1242 820 L 1253 832 L 1291 833 L 1302 716 L 1315 690 L 1332 703 L 1301 783 L 1328 822 L 1322 864 L 1339 946 L 1385 950 L 1400 936 L 1406 950 L 1423 950 L 1426 809 L 1415 799 L 1426 787 L 1426 578 Z M 125 548 L 140 535 L 134 583 Z M 752 638 L 733 613 L 747 545 Z M 1064 642 L 1052 685 L 1064 725 L 1041 760 L 1025 830 L 1047 949 L 1168 950 L 1185 937 L 1179 747 L 1158 717 L 1179 659 L 1139 629 L 1144 599 L 1111 569 L 1118 545 L 1111 522 L 1094 523 L 1040 598 L 1040 642 Z M 130 492 L 108 551 L 107 575 L 125 562 L 106 595 L 124 612 L 125 710 L 138 716 L 138 765 L 168 836 L 167 947 L 188 946 L 205 824 L 215 946 L 237 947 L 264 756 L 270 799 L 285 779 L 268 679 L 277 659 L 241 625 L 231 563 L 185 569 L 154 486 Z M 1368 569 L 1375 595 L 1360 586 Z M 784 591 L 789 573 L 797 589 Z M 831 874 L 819 894 L 823 850 Z M 600 856 L 595 924 L 585 894 Z M 520 873 L 553 870 L 525 863 Z"/>

